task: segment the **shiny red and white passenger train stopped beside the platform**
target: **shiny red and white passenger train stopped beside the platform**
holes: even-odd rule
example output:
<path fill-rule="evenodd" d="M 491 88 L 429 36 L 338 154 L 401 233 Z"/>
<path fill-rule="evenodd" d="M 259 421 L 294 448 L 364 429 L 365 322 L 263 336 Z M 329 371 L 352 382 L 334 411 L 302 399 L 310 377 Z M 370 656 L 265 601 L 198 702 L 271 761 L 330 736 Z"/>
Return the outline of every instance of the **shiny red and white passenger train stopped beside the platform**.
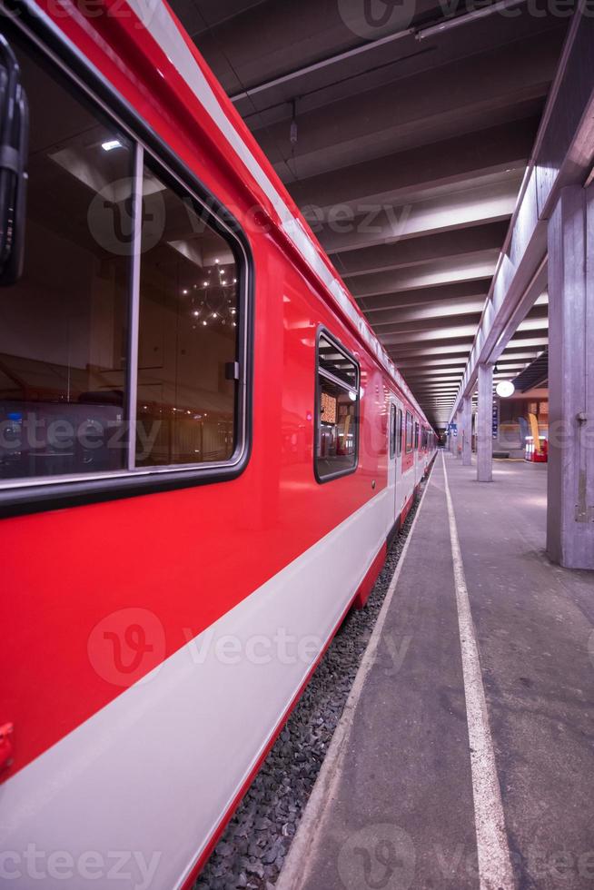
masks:
<path fill-rule="evenodd" d="M 171 890 L 435 437 L 166 4 L 3 10 L 2 881 Z"/>

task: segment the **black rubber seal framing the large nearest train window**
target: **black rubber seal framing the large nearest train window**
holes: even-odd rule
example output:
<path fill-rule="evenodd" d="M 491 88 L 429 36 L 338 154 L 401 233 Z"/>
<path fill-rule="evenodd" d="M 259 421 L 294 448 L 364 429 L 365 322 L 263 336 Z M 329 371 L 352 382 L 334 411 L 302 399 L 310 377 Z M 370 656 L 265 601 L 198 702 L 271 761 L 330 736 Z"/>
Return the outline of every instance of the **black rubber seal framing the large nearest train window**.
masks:
<path fill-rule="evenodd" d="M 2 488 L 0 480 L 0 519 L 40 513 L 47 510 L 84 506 L 103 501 L 134 498 L 159 492 L 173 491 L 231 481 L 242 475 L 252 456 L 252 391 L 253 391 L 253 328 L 255 302 L 255 269 L 250 242 L 239 221 L 190 167 L 173 152 L 150 124 L 128 104 L 122 95 L 109 84 L 103 75 L 66 37 L 43 10 L 29 5 L 26 0 L 14 0 L 0 4 L 0 30 L 10 41 L 11 37 L 25 41 L 27 48 L 38 55 L 40 61 L 53 66 L 54 74 L 70 87 L 81 90 L 87 101 L 99 105 L 141 145 L 152 162 L 172 177 L 188 196 L 198 203 L 206 214 L 209 225 L 223 237 L 234 239 L 233 252 L 243 253 L 239 265 L 239 307 L 243 318 L 243 335 L 240 336 L 239 361 L 242 368 L 240 385 L 243 400 L 238 397 L 236 413 L 242 411 L 242 447 L 236 462 L 220 464 L 212 468 L 200 465 L 181 469 L 159 468 L 156 471 L 127 471 L 104 478 L 89 480 L 36 480 L 12 488 Z M 26 262 L 26 257 L 25 257 Z M 243 405 L 242 405 L 243 401 Z M 237 420 L 237 418 L 236 418 Z"/>

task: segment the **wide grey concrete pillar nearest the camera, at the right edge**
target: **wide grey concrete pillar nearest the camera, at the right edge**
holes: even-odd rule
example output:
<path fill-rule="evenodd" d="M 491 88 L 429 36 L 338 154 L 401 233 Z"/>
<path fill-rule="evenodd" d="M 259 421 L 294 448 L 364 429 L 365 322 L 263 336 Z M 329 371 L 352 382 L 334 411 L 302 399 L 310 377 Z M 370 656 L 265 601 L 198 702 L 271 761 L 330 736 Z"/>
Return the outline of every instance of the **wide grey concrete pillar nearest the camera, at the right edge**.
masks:
<path fill-rule="evenodd" d="M 549 558 L 594 569 L 594 185 L 549 221 L 548 469 Z"/>

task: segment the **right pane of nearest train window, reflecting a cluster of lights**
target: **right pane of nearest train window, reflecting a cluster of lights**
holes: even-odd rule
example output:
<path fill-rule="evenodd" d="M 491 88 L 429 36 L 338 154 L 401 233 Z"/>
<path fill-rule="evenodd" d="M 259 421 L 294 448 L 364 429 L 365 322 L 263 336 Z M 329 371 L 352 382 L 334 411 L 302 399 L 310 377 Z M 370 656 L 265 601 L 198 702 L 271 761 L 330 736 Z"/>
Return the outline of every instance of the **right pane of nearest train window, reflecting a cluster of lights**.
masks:
<path fill-rule="evenodd" d="M 234 450 L 237 267 L 193 203 L 144 170 L 137 466 L 218 463 Z M 156 199 L 156 200 L 155 200 Z M 231 379 L 230 379 L 231 377 Z"/>

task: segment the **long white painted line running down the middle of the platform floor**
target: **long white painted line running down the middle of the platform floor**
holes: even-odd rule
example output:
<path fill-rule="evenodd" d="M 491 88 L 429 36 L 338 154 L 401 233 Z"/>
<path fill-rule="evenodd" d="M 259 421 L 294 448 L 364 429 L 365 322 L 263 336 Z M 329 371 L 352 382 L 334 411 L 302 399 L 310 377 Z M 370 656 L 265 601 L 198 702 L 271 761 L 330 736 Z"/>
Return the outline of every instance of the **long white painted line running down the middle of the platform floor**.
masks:
<path fill-rule="evenodd" d="M 470 743 L 480 890 L 513 890 L 515 884 L 511 868 L 510 846 L 505 830 L 505 817 L 503 816 L 500 783 L 495 765 L 493 739 L 490 734 L 485 688 L 482 685 L 479 648 L 470 611 L 458 527 L 443 453 L 441 459 L 443 460 L 444 487 L 450 520 L 451 558 L 454 568 L 458 628 L 462 650 L 462 675 L 464 677 L 466 719 Z"/>

